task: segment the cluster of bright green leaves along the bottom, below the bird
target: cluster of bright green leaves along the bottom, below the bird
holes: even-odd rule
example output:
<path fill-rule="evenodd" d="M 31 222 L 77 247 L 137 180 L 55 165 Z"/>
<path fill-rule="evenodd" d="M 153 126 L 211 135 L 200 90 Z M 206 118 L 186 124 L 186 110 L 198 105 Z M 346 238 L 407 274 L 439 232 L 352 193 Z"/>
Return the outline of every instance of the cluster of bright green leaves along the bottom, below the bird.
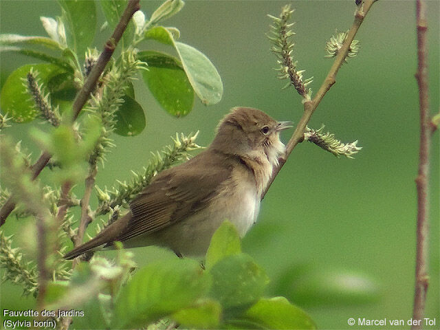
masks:
<path fill-rule="evenodd" d="M 52 283 L 47 300 L 51 308 L 84 311 L 72 329 L 146 327 L 164 318 L 184 329 L 315 329 L 286 298 L 263 296 L 269 279 L 241 252 L 229 221 L 212 236 L 204 266 L 176 258 L 132 271 L 131 254 L 124 250 L 115 263 L 94 257 L 76 268 L 69 283 Z"/>

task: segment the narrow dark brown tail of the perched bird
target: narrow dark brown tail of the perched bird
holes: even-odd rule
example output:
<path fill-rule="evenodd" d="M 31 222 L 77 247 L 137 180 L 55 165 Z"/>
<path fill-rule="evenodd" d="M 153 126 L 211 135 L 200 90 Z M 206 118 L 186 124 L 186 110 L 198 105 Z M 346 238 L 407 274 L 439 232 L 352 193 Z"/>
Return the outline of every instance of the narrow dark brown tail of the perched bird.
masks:
<path fill-rule="evenodd" d="M 74 250 L 70 252 L 67 252 L 67 254 L 63 256 L 63 258 L 66 260 L 74 259 L 87 251 L 98 250 L 104 245 L 111 244 L 113 243 L 113 241 L 117 241 L 118 236 L 120 236 L 124 232 L 124 229 L 128 225 L 130 219 L 131 212 L 125 214 L 120 219 L 111 223 L 111 225 L 109 225 L 107 228 L 104 228 L 102 232 L 100 232 L 90 241 L 74 248 Z"/>

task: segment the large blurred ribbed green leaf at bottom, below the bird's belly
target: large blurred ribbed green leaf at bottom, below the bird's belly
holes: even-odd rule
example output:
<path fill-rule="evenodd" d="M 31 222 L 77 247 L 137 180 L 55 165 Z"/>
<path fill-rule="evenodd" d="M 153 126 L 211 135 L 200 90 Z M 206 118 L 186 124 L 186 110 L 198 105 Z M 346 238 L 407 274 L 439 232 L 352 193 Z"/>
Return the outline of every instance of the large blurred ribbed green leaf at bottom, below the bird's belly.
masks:
<path fill-rule="evenodd" d="M 112 328 L 140 327 L 190 307 L 210 287 L 197 261 L 166 260 L 138 270 L 115 301 Z"/>

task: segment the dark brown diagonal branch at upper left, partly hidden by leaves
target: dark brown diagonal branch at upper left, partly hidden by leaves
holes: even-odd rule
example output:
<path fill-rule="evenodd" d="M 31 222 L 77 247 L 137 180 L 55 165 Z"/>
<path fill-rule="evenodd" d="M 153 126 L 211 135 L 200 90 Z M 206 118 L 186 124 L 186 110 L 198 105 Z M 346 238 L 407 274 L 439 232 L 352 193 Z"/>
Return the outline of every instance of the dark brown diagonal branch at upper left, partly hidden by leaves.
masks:
<path fill-rule="evenodd" d="M 83 109 L 85 103 L 87 102 L 87 100 L 89 100 L 89 96 L 91 92 L 94 91 L 98 79 L 100 78 L 102 72 L 104 71 L 104 68 L 107 65 L 107 63 L 109 63 L 111 55 L 115 51 L 115 48 L 118 45 L 118 42 L 120 41 L 122 34 L 124 33 L 127 25 L 129 24 L 131 17 L 135 12 L 137 12 L 137 10 L 140 9 L 139 1 L 140 0 L 129 1 L 128 5 L 124 10 L 124 13 L 122 14 L 122 17 L 120 18 L 118 25 L 113 31 L 113 34 L 111 35 L 110 39 L 105 43 L 104 50 L 100 54 L 96 65 L 91 70 L 87 78 L 87 81 L 85 82 L 83 88 L 80 90 L 80 92 L 75 98 L 73 104 L 72 121 L 76 120 L 81 109 Z M 49 162 L 51 157 L 52 155 L 50 155 L 50 153 L 47 153 L 47 151 L 45 151 L 40 156 L 40 158 L 36 161 L 36 163 L 31 167 L 32 179 L 35 179 L 36 177 L 39 176 L 41 170 L 43 170 L 43 168 L 46 166 L 47 162 Z M 6 218 L 9 216 L 10 212 L 14 210 L 14 208 L 15 208 L 15 202 L 11 196 L 8 199 L 8 201 L 6 201 L 6 203 L 3 205 L 3 207 L 0 209 L 0 226 L 3 225 L 3 223 L 5 223 Z"/>

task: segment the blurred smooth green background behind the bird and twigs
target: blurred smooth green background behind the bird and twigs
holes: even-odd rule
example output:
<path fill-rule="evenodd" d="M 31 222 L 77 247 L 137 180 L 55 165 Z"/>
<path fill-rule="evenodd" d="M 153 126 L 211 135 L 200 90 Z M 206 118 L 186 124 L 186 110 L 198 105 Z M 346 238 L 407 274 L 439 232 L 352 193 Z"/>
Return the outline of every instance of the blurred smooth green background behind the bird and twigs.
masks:
<path fill-rule="evenodd" d="M 430 104 L 439 109 L 439 1 L 428 2 Z M 147 17 L 159 1 L 141 1 Z M 224 94 L 205 107 L 196 100 L 184 118 L 159 108 L 143 83 L 135 84 L 146 110 L 147 126 L 136 137 L 115 136 L 116 148 L 101 168 L 97 184 L 111 186 L 129 179 L 175 132 L 200 130 L 206 146 L 230 107 L 262 109 L 278 120 L 298 122 L 303 107 L 294 89 L 281 90 L 276 58 L 265 37 L 270 19 L 292 3 L 294 58 L 317 91 L 332 60 L 324 58 L 325 42 L 353 21 L 354 1 L 187 1 L 166 21 L 181 31 L 181 41 L 201 50 L 217 67 Z M 0 1 L 1 33 L 45 35 L 40 16 L 61 14 L 55 1 Z M 102 14 L 100 14 L 102 20 Z M 98 32 L 100 49 L 110 31 Z M 416 58 L 415 4 L 379 1 L 373 5 L 356 39 L 357 58 L 343 65 L 337 83 L 322 100 L 309 126 L 322 123 L 345 142 L 359 140 L 355 159 L 336 159 L 316 146 L 300 144 L 267 193 L 259 222 L 243 240 L 244 250 L 262 265 L 272 285 L 268 294 L 283 294 L 305 308 L 320 329 L 350 329 L 348 318 L 402 319 L 412 316 L 415 266 L 415 223 L 419 124 L 414 78 Z M 162 49 L 155 42 L 141 49 Z M 34 60 L 1 53 L 1 83 L 14 69 Z M 38 155 L 28 138 L 32 124 L 14 124 L 8 134 Z M 41 125 L 40 125 L 41 126 Z M 291 131 L 283 135 L 285 142 Z M 426 317 L 439 329 L 439 132 L 434 135 L 431 163 L 430 287 Z M 4 173 L 3 173 L 4 174 Z M 47 172 L 42 175 L 47 178 Z M 76 187 L 80 195 L 82 186 Z M 6 234 L 20 230 L 9 219 Z M 154 248 L 133 250 L 142 265 L 158 256 Z M 1 306 L 25 309 L 31 298 L 3 283 Z M 356 328 L 356 326 L 352 327 Z M 409 328 L 406 326 L 406 328 Z M 397 329 L 397 327 L 389 327 Z"/>

